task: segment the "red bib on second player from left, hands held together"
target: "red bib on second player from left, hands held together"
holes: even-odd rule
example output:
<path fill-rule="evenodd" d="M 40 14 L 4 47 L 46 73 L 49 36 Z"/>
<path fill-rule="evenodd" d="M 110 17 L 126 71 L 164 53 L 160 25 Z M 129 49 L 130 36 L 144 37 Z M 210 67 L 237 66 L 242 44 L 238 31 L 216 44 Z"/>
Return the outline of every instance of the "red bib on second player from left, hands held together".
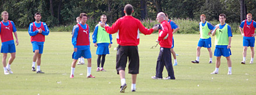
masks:
<path fill-rule="evenodd" d="M 42 31 L 45 31 L 44 25 L 42 25 L 42 22 L 41 22 L 40 27 L 36 27 L 35 22 L 33 22 L 33 32 L 36 31 L 36 30 L 40 30 L 40 28 L 42 29 Z M 37 35 L 31 36 L 30 39 L 31 39 L 31 42 L 33 42 L 33 41 L 44 42 L 45 41 L 45 36 L 42 35 L 41 33 L 38 33 Z"/>

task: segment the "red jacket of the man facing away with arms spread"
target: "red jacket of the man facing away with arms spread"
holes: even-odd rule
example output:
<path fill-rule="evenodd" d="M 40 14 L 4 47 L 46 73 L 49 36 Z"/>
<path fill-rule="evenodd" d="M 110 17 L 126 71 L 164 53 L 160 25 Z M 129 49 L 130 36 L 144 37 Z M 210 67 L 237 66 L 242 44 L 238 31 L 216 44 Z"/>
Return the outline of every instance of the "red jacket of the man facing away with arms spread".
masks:
<path fill-rule="evenodd" d="M 140 32 L 144 35 L 151 34 L 154 30 L 145 28 L 140 20 L 133 16 L 123 16 L 116 20 L 112 27 L 105 27 L 106 32 L 118 32 L 116 40 L 121 46 L 137 46 L 140 43 Z"/>

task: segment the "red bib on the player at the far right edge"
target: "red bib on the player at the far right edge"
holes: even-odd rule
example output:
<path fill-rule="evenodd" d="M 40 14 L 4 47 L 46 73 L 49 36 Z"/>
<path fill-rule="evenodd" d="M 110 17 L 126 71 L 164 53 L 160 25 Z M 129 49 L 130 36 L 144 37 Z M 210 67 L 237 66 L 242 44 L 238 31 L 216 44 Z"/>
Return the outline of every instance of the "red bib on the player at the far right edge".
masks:
<path fill-rule="evenodd" d="M 247 25 L 247 20 L 244 21 L 244 36 L 251 37 L 253 36 L 255 28 L 253 27 L 253 20 L 250 25 Z"/>

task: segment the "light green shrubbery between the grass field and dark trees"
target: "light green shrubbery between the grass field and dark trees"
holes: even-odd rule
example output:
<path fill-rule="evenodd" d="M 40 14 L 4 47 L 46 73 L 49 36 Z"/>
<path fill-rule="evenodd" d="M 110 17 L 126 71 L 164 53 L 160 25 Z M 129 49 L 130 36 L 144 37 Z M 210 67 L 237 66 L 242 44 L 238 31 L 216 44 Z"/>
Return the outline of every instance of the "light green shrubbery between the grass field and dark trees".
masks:
<path fill-rule="evenodd" d="M 177 34 L 199 34 L 200 21 L 191 20 L 191 19 L 172 19 L 172 20 L 180 27 L 180 30 L 176 32 Z M 219 21 L 209 21 L 209 22 L 212 23 L 212 25 L 219 24 Z M 51 23 L 54 24 L 53 22 Z M 151 20 L 151 19 L 142 20 L 141 23 L 147 28 L 152 28 L 155 24 L 159 24 L 156 20 Z M 55 26 L 55 27 L 49 28 L 49 30 L 56 31 L 56 32 L 72 32 L 73 26 L 75 24 L 76 22 L 73 21 L 73 22 L 70 22 L 69 25 Z M 90 32 L 93 32 L 95 25 L 98 24 L 98 21 L 91 18 L 87 20 L 87 24 L 90 27 Z M 240 23 L 227 23 L 227 24 L 230 25 L 230 27 L 232 28 L 232 32 L 234 34 L 240 33 L 239 31 Z M 109 24 L 109 25 L 112 25 L 112 24 Z M 18 31 L 20 30 L 18 29 Z"/>

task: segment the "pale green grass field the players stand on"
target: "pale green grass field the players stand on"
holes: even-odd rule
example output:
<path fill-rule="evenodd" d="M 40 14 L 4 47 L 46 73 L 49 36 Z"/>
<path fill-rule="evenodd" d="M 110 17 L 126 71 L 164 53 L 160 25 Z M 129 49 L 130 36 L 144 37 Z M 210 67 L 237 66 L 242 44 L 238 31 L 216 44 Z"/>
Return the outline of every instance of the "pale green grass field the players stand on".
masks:
<path fill-rule="evenodd" d="M 87 79 L 87 66 L 77 65 L 74 78 L 70 79 L 73 46 L 71 32 L 50 32 L 45 38 L 42 54 L 41 70 L 45 74 L 31 71 L 32 46 L 27 32 L 17 32 L 19 46 L 16 46 L 16 59 L 11 65 L 14 74 L 4 75 L 0 68 L 0 94 L 120 94 L 120 79 L 115 70 L 116 34 L 113 35 L 113 45 L 106 56 L 104 68 L 106 72 L 96 72 L 97 55 L 91 44 L 92 75 L 95 79 Z M 90 33 L 92 34 L 92 33 Z M 242 65 L 242 37 L 232 38 L 232 74 L 227 75 L 226 59 L 222 57 L 219 74 L 211 75 L 215 64 L 208 64 L 209 56 L 205 48 L 201 49 L 200 64 L 192 64 L 199 35 L 175 34 L 175 52 L 178 65 L 173 67 L 176 80 L 154 80 L 155 67 L 159 53 L 156 44 L 158 34 L 140 35 L 140 74 L 137 76 L 137 90 L 130 92 L 131 75 L 126 72 L 128 85 L 123 94 L 255 94 L 256 93 L 256 60 L 254 64 Z M 90 37 L 92 42 L 92 39 Z M 212 38 L 212 52 L 214 52 Z M 2 56 L 2 54 L 1 54 Z M 0 56 L 0 57 L 1 57 Z M 8 54 L 8 58 L 9 58 Z M 213 58 L 215 63 L 216 57 Z M 173 60 L 172 60 L 173 61 Z M 247 52 L 247 63 L 250 61 L 250 50 Z M 1 66 L 2 67 L 2 66 Z M 83 75 L 81 75 L 83 74 Z M 163 76 L 167 76 L 166 70 Z"/>

